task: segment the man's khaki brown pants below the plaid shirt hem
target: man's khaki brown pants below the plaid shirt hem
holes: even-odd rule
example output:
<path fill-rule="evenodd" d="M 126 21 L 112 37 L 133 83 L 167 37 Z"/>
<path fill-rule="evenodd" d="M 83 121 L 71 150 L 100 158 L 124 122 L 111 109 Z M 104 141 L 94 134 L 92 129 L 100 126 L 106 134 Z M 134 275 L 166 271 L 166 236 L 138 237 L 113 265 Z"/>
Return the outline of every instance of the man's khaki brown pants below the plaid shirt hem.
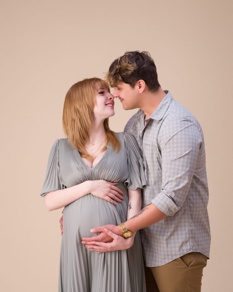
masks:
<path fill-rule="evenodd" d="M 200 292 L 206 262 L 206 256 L 192 252 L 159 267 L 145 267 L 146 292 Z"/>

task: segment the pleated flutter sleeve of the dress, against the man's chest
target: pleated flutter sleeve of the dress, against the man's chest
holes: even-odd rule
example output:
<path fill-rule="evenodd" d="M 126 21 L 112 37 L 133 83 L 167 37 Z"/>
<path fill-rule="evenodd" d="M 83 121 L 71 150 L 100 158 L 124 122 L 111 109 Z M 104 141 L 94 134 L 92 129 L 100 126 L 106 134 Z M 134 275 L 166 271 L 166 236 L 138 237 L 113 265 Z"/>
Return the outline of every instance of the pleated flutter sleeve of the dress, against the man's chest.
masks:
<path fill-rule="evenodd" d="M 124 133 L 124 142 L 128 163 L 128 178 L 124 185 L 130 190 L 136 190 L 138 187 L 142 189 L 146 186 L 146 177 L 137 141 L 132 135 Z"/>

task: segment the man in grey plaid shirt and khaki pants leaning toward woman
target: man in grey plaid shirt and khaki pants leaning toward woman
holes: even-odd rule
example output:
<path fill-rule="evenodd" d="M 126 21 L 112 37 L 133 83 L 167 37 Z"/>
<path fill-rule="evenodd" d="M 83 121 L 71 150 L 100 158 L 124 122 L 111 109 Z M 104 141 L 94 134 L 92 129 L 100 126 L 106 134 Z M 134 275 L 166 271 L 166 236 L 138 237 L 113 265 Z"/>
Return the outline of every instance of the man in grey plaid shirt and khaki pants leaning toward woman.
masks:
<path fill-rule="evenodd" d="M 200 291 L 210 248 L 201 126 L 162 90 L 148 52 L 126 52 L 114 60 L 107 82 L 123 109 L 140 108 L 124 131 L 140 147 L 147 186 L 140 213 L 121 226 L 93 228 L 91 232 L 101 233 L 82 242 L 98 252 L 126 249 L 133 241 L 124 237 L 140 230 L 145 264 L 159 291 Z"/>

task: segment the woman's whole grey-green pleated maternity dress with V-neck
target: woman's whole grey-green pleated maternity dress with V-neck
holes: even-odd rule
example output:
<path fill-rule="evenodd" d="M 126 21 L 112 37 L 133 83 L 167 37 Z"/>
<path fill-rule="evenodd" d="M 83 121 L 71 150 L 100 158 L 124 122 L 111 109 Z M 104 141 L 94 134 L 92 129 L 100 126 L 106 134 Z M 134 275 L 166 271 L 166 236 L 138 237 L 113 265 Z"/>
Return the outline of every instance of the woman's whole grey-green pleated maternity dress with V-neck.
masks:
<path fill-rule="evenodd" d="M 87 180 L 119 183 L 122 203 L 113 205 L 87 194 L 65 206 L 61 239 L 59 292 L 143 292 L 146 291 L 140 234 L 128 250 L 99 253 L 81 243 L 91 237 L 90 229 L 126 221 L 128 190 L 146 185 L 143 163 L 132 135 L 115 133 L 121 143 L 117 153 L 109 143 L 102 159 L 89 168 L 67 139 L 56 140 L 50 151 L 41 196 Z"/>

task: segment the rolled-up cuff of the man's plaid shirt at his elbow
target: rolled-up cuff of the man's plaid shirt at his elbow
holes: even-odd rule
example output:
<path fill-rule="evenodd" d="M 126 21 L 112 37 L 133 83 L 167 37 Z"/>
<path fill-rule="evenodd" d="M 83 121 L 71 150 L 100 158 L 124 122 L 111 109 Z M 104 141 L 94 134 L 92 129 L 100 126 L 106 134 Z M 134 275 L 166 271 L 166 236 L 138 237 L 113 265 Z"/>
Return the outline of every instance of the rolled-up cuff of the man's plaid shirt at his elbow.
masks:
<path fill-rule="evenodd" d="M 151 203 L 167 216 L 174 216 L 180 209 L 165 193 L 160 192 Z"/>

